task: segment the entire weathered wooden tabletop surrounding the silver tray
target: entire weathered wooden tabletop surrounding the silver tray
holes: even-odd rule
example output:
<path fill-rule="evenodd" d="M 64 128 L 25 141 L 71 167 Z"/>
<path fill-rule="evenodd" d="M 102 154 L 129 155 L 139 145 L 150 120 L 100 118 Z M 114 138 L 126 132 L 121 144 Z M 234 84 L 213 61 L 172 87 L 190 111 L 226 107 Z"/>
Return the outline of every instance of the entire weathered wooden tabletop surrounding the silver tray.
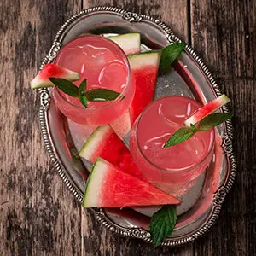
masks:
<path fill-rule="evenodd" d="M 114 235 L 73 199 L 49 165 L 29 87 L 62 23 L 114 5 L 160 17 L 192 45 L 232 99 L 236 183 L 212 230 L 194 244 L 154 249 Z M 255 0 L 1 0 L 1 255 L 256 255 Z"/>

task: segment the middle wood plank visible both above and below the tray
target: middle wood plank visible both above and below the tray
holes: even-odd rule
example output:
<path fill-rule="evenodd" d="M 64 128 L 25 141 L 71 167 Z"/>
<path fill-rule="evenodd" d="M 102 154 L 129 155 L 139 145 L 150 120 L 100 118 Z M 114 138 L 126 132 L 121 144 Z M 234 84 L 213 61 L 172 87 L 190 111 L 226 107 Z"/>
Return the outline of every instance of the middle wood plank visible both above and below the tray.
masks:
<path fill-rule="evenodd" d="M 180 38 L 188 41 L 187 1 L 84 1 L 84 8 L 98 5 L 113 5 L 137 13 L 154 15 L 171 26 Z M 86 227 L 82 228 L 84 255 L 193 255 L 193 245 L 175 250 L 168 247 L 154 249 L 143 241 L 114 235 L 112 231 L 98 224 L 90 211 L 84 210 L 82 216 Z"/>

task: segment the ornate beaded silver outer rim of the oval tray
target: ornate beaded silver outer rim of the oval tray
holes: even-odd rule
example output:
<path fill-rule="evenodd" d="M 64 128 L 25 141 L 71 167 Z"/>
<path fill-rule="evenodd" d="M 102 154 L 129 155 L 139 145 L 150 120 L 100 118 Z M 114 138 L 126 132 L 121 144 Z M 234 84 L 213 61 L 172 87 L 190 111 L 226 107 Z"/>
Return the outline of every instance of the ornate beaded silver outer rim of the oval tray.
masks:
<path fill-rule="evenodd" d="M 54 43 L 52 44 L 51 49 L 49 50 L 49 54 L 46 55 L 46 57 L 44 58 L 44 61 L 42 62 L 40 69 L 44 67 L 46 63 L 52 61 L 55 58 L 58 51 L 61 49 L 61 43 L 59 42 L 59 40 L 62 36 L 62 33 L 65 32 L 65 29 L 67 28 L 67 26 L 71 25 L 74 20 L 77 20 L 84 15 L 88 15 L 88 14 L 96 13 L 100 11 L 108 12 L 114 15 L 119 15 L 123 19 L 129 22 L 140 22 L 142 20 L 144 21 L 147 20 L 149 22 L 154 23 L 154 25 L 156 26 L 160 26 L 160 28 L 166 32 L 166 38 L 170 43 L 181 42 L 181 40 L 177 38 L 177 36 L 172 32 L 172 30 L 168 26 L 166 26 L 166 24 L 161 22 L 159 19 L 155 19 L 154 17 L 148 16 L 148 15 L 138 15 L 137 13 L 126 12 L 123 9 L 119 9 L 115 7 L 98 6 L 90 9 L 83 9 L 76 15 L 73 15 L 69 20 L 67 20 L 66 23 L 64 23 L 63 26 L 61 26 L 61 29 L 59 30 L 59 32 L 57 32 L 55 36 L 55 40 L 54 40 Z M 212 74 L 209 72 L 205 64 L 201 61 L 201 58 L 195 53 L 194 49 L 192 49 L 189 45 L 186 45 L 186 50 L 189 53 L 189 55 L 195 60 L 197 65 L 201 68 L 202 72 L 206 75 L 216 95 L 220 96 L 221 92 L 218 88 L 218 84 L 213 79 Z M 49 153 L 50 160 L 55 166 L 55 170 L 59 173 L 63 182 L 67 185 L 67 188 L 71 191 L 71 193 L 74 195 L 74 197 L 78 201 L 82 202 L 83 197 L 82 195 L 79 194 L 73 181 L 70 180 L 69 177 L 67 177 L 66 171 L 62 166 L 61 161 L 59 160 L 58 154 L 55 151 L 54 143 L 49 133 L 49 123 L 47 118 L 47 110 L 49 108 L 49 100 L 50 100 L 49 91 L 47 89 L 41 89 L 39 90 L 39 92 L 40 92 L 39 119 L 40 119 L 41 130 L 43 133 L 45 148 Z M 223 111 L 227 113 L 228 108 L 224 107 Z M 177 246 L 186 244 L 188 242 L 195 241 L 195 239 L 204 235 L 207 232 L 207 230 L 209 230 L 212 227 L 212 225 L 215 223 L 216 219 L 218 218 L 220 209 L 222 207 L 224 197 L 230 191 L 236 176 L 236 160 L 235 160 L 235 155 L 234 155 L 233 146 L 232 146 L 232 138 L 233 138 L 232 130 L 233 129 L 232 129 L 231 122 L 227 121 L 226 133 L 223 137 L 222 147 L 224 148 L 224 152 L 227 158 L 230 160 L 230 173 L 229 173 L 229 176 L 226 178 L 224 184 L 221 185 L 218 188 L 218 191 L 213 195 L 212 212 L 210 212 L 207 218 L 207 221 L 203 226 L 201 226 L 200 229 L 193 231 L 187 236 L 183 236 L 180 238 L 167 238 L 160 244 L 161 246 L 177 247 Z M 108 218 L 108 216 L 105 214 L 105 212 L 102 209 L 94 209 L 93 212 L 95 212 L 96 218 L 99 220 L 100 223 L 105 225 L 109 230 L 112 230 L 116 234 L 119 234 L 120 236 L 139 238 L 139 239 L 142 239 L 143 241 L 152 242 L 150 238 L 150 234 L 147 230 L 143 230 L 142 228 L 125 228 L 125 227 L 119 226 L 118 224 L 113 223 L 113 221 Z"/>

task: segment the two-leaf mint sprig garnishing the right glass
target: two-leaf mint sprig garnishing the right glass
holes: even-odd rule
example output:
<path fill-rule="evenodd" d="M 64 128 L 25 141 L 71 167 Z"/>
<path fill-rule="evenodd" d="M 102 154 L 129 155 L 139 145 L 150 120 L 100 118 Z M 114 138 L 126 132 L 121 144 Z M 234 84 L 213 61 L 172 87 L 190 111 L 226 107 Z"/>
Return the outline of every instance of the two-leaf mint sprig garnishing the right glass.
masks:
<path fill-rule="evenodd" d="M 201 119 L 197 127 L 191 124 L 191 127 L 183 127 L 175 131 L 172 136 L 168 138 L 163 148 L 169 148 L 179 143 L 183 143 L 192 137 L 196 132 L 210 130 L 231 118 L 232 113 L 209 114 L 204 119 Z"/>

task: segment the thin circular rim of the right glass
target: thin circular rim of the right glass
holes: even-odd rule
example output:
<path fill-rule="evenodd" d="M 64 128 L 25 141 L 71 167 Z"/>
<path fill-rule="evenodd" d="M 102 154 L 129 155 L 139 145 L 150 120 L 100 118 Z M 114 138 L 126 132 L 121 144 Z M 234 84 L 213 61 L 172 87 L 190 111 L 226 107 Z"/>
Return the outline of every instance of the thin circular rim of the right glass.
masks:
<path fill-rule="evenodd" d="M 178 95 L 172 95 L 172 96 L 178 96 Z M 151 166 L 154 166 L 155 168 L 157 168 L 158 170 L 161 170 L 162 172 L 169 172 L 169 173 L 179 173 L 179 172 L 189 172 L 191 171 L 192 169 L 195 169 L 197 166 L 200 166 L 201 163 L 204 161 L 204 160 L 207 160 L 207 157 L 212 153 L 212 150 L 214 148 L 214 145 L 215 145 L 215 128 L 212 128 L 210 131 L 212 131 L 212 140 L 211 140 L 211 143 L 210 143 L 210 147 L 208 148 L 208 152 L 207 154 L 198 162 L 196 162 L 195 165 L 190 165 L 190 166 L 186 166 L 186 167 L 183 167 L 183 168 L 172 168 L 172 169 L 168 169 L 168 168 L 162 168 L 160 166 L 157 166 L 156 164 L 154 164 L 151 160 L 148 159 L 148 157 L 143 153 L 143 150 L 142 148 L 140 147 L 140 144 L 139 144 L 139 141 L 138 141 L 138 125 L 140 123 L 140 120 L 142 119 L 143 117 L 143 113 L 145 113 L 148 108 L 150 108 L 155 102 L 159 102 L 160 100 L 164 99 L 164 98 L 168 98 L 168 97 L 172 97 L 172 96 L 164 96 L 164 97 L 160 97 L 159 99 L 155 100 L 154 102 L 151 102 L 146 108 L 143 109 L 143 112 L 139 115 L 139 117 L 137 118 L 136 120 L 136 125 L 135 125 L 135 138 L 136 138 L 136 144 L 137 144 L 137 148 L 139 150 L 139 153 L 143 156 L 144 160 L 146 160 Z M 188 96 L 178 96 L 178 97 L 183 97 L 183 98 L 189 98 L 193 101 L 195 101 L 193 98 L 190 98 Z M 196 102 L 196 101 L 195 101 Z M 196 102 L 196 103 L 199 103 L 199 102 Z"/>

